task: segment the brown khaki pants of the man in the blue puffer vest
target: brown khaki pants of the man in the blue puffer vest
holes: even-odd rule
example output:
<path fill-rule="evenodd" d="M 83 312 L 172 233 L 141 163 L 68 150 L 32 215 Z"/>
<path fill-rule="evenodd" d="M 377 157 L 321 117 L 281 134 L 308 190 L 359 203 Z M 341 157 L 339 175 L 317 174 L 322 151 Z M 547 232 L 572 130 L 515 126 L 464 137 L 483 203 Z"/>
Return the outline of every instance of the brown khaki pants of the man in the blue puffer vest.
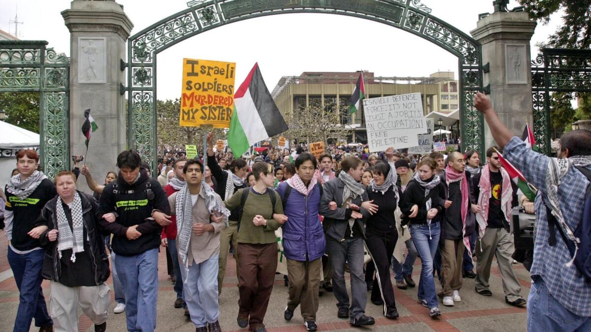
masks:
<path fill-rule="evenodd" d="M 311 262 L 287 258 L 287 278 L 290 281 L 287 307 L 296 310 L 297 306 L 301 305 L 301 317 L 304 321 L 316 321 L 320 266 L 322 266 L 320 258 Z"/>

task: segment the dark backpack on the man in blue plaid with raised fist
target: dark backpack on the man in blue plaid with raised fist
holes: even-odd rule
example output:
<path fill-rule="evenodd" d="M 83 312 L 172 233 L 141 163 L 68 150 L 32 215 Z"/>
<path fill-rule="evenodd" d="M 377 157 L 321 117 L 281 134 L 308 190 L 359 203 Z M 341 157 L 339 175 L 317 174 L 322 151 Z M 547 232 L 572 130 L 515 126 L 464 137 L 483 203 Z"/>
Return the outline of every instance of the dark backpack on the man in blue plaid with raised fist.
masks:
<path fill-rule="evenodd" d="M 548 236 L 548 245 L 556 246 L 555 229 L 558 229 L 564 244 L 569 248 L 570 255 L 573 257 L 574 266 L 579 269 L 579 272 L 587 279 L 587 281 L 591 281 L 591 171 L 584 167 L 575 167 L 582 172 L 590 182 L 585 194 L 583 219 L 573 232 L 574 236 L 580 240 L 578 248 L 573 241 L 569 240 L 566 235 L 564 235 L 563 230 L 558 225 L 556 217 L 552 214 L 548 204 L 545 204 L 544 202 L 546 206 L 546 214 L 548 215 L 548 230 L 550 232 L 550 236 Z"/>

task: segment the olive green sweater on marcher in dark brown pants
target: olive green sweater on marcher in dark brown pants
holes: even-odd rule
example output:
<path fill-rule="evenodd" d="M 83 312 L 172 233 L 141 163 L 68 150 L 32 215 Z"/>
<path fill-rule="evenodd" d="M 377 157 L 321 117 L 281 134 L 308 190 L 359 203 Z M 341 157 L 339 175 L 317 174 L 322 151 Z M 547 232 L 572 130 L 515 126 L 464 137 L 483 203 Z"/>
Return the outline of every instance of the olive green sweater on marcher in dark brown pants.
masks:
<path fill-rule="evenodd" d="M 267 192 L 259 194 L 252 188 L 242 188 L 232 195 L 232 197 L 225 200 L 226 207 L 232 211 L 240 205 L 242 199 L 242 191 L 250 190 L 248 197 L 244 203 L 242 209 L 242 218 L 240 220 L 240 228 L 238 230 L 238 242 L 239 243 L 252 243 L 252 244 L 268 244 L 277 242 L 275 236 L 275 230 L 281 226 L 279 223 L 272 219 L 271 214 L 273 209 L 271 206 L 271 197 Z M 281 204 L 281 197 L 277 192 L 267 188 L 267 191 L 271 190 L 271 194 L 275 195 L 275 213 L 283 214 L 283 206 Z M 267 220 L 267 226 L 255 226 L 252 223 L 252 219 L 256 214 L 261 215 Z"/>

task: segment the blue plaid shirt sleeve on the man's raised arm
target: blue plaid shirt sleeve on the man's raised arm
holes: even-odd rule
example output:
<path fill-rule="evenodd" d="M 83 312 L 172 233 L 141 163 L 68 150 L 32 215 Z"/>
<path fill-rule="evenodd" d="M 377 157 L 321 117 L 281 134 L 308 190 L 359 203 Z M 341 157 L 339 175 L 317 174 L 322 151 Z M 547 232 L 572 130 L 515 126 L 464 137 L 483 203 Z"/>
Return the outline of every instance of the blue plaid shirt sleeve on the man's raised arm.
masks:
<path fill-rule="evenodd" d="M 514 136 L 503 150 L 503 157 L 519 168 L 529 183 L 538 190 L 545 190 L 545 177 L 550 157 L 528 148 L 524 141 Z"/>

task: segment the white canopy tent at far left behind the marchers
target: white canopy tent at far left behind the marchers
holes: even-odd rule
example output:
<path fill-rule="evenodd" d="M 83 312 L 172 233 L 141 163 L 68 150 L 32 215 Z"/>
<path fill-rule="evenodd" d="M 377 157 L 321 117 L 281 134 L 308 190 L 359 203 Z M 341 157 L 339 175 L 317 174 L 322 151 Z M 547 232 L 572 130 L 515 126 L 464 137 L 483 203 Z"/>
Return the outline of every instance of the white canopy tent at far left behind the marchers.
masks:
<path fill-rule="evenodd" d="M 0 121 L 0 185 L 2 190 L 17 167 L 17 152 L 20 149 L 39 152 L 39 134 Z"/>

